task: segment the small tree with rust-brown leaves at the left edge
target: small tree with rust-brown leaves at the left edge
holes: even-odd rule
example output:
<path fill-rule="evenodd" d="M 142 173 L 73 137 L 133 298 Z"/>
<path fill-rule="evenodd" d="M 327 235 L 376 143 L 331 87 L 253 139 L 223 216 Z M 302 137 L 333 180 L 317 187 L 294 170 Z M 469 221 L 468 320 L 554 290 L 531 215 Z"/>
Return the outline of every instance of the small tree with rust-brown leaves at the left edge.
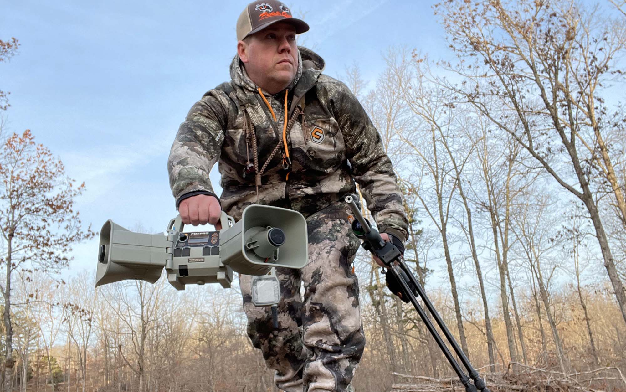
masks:
<path fill-rule="evenodd" d="M 0 150 L 0 227 L 6 252 L 4 265 L 5 390 L 11 391 L 13 372 L 13 325 L 11 283 L 13 271 L 58 271 L 68 265 L 71 245 L 93 236 L 83 231 L 74 199 L 85 185 L 74 186 L 63 163 L 48 148 L 37 145 L 29 130 L 13 134 Z"/>

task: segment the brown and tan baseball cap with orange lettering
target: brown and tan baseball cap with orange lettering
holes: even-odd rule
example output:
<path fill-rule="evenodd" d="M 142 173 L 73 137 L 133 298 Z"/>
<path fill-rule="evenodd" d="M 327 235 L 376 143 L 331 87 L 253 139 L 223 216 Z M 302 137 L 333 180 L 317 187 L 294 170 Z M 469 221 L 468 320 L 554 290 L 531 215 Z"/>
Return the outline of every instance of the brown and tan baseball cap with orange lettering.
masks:
<path fill-rule="evenodd" d="M 237 19 L 237 41 L 280 21 L 293 24 L 296 34 L 309 30 L 309 25 L 294 18 L 284 3 L 275 0 L 253 1 Z"/>

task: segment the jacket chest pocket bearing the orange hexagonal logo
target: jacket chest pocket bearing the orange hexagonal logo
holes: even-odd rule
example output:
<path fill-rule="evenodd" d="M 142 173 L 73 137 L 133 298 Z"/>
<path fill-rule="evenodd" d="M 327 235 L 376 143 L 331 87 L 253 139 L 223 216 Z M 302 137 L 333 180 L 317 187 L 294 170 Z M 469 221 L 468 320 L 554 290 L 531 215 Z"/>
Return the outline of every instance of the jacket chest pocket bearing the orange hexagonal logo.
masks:
<path fill-rule="evenodd" d="M 296 123 L 290 134 L 292 155 L 307 170 L 330 173 L 346 160 L 344 137 L 334 118 Z"/>

